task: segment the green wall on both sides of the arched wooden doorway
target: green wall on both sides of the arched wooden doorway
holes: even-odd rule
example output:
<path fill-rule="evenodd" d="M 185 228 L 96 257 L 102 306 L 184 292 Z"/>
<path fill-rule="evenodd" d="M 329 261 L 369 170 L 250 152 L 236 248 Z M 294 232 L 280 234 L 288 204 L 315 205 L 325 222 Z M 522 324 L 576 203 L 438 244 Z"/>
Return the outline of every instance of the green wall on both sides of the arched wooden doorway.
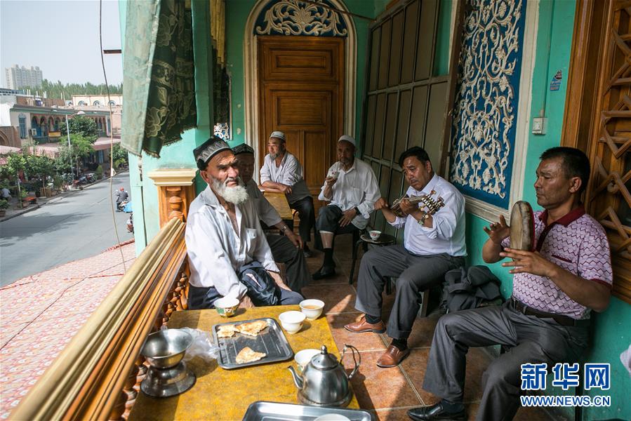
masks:
<path fill-rule="evenodd" d="M 376 17 L 385 9 L 389 0 L 344 0 L 349 11 L 358 15 Z M 256 0 L 226 2 L 226 53 L 227 68 L 232 77 L 232 146 L 239 145 L 245 139 L 245 104 L 244 104 L 244 28 Z M 357 29 L 357 119 L 355 134 L 361 124 L 361 107 L 364 100 L 366 41 L 368 40 L 368 20 L 353 18 Z M 449 41 L 448 41 L 449 43 Z"/>

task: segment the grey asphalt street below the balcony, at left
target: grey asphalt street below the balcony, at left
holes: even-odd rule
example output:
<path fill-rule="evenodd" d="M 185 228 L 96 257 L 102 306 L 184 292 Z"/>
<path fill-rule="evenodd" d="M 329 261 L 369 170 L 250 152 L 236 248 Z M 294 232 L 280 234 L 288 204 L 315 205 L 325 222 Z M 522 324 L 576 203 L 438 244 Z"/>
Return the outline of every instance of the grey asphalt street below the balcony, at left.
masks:
<path fill-rule="evenodd" d="M 0 285 L 43 272 L 63 263 L 98 255 L 118 243 L 109 198 L 114 190 L 129 191 L 129 175 L 117 175 L 73 192 L 39 209 L 0 222 Z M 127 213 L 114 212 L 121 242 Z"/>

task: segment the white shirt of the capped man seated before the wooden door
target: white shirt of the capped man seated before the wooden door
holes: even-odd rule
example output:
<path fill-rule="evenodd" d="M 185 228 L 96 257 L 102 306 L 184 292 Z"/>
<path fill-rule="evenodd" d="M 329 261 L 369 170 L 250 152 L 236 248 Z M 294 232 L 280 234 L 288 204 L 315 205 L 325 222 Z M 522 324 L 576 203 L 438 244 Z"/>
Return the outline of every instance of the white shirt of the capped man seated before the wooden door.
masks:
<path fill-rule="evenodd" d="M 260 184 L 273 181 L 291 186 L 291 194 L 287 194 L 289 203 L 304 199 L 311 194 L 303 178 L 303 166 L 295 156 L 285 152 L 279 166 L 276 166 L 275 161 L 270 154 L 265 155 L 263 167 L 260 168 Z"/>

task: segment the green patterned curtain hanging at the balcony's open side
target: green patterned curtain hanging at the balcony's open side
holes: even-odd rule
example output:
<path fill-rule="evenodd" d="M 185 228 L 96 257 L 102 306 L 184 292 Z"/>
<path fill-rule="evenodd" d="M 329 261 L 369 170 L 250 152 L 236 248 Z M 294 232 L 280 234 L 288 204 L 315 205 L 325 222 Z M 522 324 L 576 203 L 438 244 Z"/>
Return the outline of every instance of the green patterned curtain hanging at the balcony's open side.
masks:
<path fill-rule="evenodd" d="M 191 11 L 185 0 L 127 2 L 123 136 L 129 152 L 159 157 L 197 123 Z"/>

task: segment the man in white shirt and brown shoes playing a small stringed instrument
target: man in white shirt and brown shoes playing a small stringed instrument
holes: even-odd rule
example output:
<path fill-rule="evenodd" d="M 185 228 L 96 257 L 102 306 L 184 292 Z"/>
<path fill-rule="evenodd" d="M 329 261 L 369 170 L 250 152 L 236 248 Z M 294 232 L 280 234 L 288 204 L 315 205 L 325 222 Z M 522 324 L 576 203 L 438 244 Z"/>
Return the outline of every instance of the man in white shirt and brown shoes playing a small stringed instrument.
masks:
<path fill-rule="evenodd" d="M 392 343 L 378 359 L 380 367 L 397 366 L 409 355 L 407 339 L 420 308 L 420 293 L 439 285 L 447 271 L 463 266 L 467 254 L 463 195 L 434 173 L 430 157 L 421 147 L 403 152 L 399 165 L 410 184 L 409 199 L 401 200 L 397 210 L 404 216 L 397 216 L 383 198 L 375 202 L 375 209 L 382 211 L 390 225 L 405 229 L 404 244 L 376 248 L 361 259 L 355 308 L 364 316 L 345 326 L 353 333 L 383 333 L 381 294 L 388 278 L 398 278 L 387 326 Z M 425 195 L 430 198 L 412 203 L 414 196 Z"/>

